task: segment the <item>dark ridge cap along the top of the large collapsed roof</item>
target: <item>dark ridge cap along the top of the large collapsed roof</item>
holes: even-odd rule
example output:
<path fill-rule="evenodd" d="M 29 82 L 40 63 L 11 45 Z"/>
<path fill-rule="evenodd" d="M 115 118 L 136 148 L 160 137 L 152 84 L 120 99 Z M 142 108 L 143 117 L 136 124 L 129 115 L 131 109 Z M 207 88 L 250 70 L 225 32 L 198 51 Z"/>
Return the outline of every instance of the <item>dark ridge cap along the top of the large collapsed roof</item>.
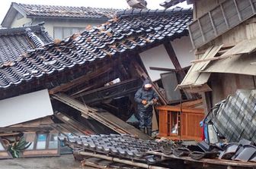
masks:
<path fill-rule="evenodd" d="M 171 9 L 126 9 L 123 11 L 117 11 L 117 17 L 127 17 L 133 15 L 142 15 L 142 14 L 173 14 L 173 13 L 192 13 L 192 8 L 171 8 Z"/>

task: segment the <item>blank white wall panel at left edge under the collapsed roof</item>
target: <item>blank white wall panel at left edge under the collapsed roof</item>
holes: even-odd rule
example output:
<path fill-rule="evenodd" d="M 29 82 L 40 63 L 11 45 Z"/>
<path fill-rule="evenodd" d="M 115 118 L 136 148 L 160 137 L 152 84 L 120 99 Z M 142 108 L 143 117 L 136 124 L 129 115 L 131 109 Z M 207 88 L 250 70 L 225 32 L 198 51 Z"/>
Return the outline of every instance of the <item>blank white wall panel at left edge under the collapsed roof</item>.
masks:
<path fill-rule="evenodd" d="M 0 127 L 19 124 L 53 114 L 47 89 L 0 100 Z"/>

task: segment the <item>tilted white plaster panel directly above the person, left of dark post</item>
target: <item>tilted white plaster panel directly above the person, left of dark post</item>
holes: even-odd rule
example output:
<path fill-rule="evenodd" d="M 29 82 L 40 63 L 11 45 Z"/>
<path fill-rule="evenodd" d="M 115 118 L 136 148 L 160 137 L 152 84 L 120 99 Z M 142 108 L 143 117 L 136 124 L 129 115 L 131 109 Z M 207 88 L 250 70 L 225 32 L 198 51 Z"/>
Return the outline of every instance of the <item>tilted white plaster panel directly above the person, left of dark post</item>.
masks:
<path fill-rule="evenodd" d="M 149 67 L 174 69 L 174 65 L 172 64 L 164 45 L 158 45 L 155 48 L 147 50 L 146 52 L 142 52 L 139 54 L 139 56 L 142 59 L 142 62 L 146 67 L 152 81 L 161 79 L 160 74 L 166 73 L 166 71 L 150 70 Z"/>

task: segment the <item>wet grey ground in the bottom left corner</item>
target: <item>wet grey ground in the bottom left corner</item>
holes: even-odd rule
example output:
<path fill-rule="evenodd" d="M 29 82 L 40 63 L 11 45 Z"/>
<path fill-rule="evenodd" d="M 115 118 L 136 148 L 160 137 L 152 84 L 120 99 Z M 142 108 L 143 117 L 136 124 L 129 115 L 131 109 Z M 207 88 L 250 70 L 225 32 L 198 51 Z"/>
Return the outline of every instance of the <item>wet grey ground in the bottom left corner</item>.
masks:
<path fill-rule="evenodd" d="M 53 158 L 15 158 L 0 160 L 0 169 L 80 169 L 79 161 L 73 155 L 62 155 Z"/>

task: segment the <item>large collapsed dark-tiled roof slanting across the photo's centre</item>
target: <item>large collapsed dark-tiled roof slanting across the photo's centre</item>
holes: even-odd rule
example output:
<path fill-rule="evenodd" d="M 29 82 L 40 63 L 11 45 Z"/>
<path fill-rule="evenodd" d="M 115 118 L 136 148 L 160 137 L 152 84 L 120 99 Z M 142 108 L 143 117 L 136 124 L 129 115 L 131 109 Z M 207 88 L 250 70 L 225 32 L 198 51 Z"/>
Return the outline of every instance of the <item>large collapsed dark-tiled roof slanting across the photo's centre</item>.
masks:
<path fill-rule="evenodd" d="M 20 55 L 12 64 L 1 64 L 0 88 L 8 88 L 106 56 L 115 57 L 137 51 L 163 40 L 179 38 L 187 35 L 187 25 L 191 20 L 190 9 L 120 12 L 118 17 L 99 27 L 31 50 L 26 55 Z"/>

